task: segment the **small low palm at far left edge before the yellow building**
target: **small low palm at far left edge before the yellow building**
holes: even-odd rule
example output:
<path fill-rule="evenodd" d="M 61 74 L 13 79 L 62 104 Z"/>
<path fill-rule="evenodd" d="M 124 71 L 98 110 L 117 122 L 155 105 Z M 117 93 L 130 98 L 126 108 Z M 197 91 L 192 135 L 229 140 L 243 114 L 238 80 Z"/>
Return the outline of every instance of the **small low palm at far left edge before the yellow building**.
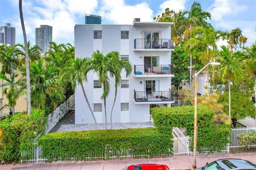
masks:
<path fill-rule="evenodd" d="M 5 87 L 3 93 L 8 99 L 8 106 L 10 107 L 10 111 L 14 115 L 14 106 L 17 104 L 17 100 L 19 98 L 19 89 L 17 88 L 17 84 L 14 81 L 14 79 L 18 77 L 18 74 L 12 74 L 13 75 L 9 79 L 4 73 L 0 73 L 0 78 L 5 81 L 4 84 L 1 84 L 1 87 Z"/>

